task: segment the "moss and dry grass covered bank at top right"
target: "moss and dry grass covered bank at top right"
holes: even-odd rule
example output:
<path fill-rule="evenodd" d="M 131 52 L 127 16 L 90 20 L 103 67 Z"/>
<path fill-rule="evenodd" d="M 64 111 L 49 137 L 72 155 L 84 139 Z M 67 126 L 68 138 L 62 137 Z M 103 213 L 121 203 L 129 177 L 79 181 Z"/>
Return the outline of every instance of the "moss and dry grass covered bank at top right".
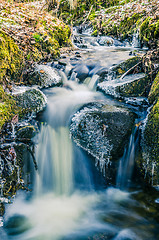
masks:
<path fill-rule="evenodd" d="M 57 11 L 68 24 L 87 22 L 93 26 L 93 35 L 110 35 L 132 40 L 136 32 L 142 46 L 159 46 L 159 10 L 157 0 L 61 0 L 47 1 L 48 9 Z"/>

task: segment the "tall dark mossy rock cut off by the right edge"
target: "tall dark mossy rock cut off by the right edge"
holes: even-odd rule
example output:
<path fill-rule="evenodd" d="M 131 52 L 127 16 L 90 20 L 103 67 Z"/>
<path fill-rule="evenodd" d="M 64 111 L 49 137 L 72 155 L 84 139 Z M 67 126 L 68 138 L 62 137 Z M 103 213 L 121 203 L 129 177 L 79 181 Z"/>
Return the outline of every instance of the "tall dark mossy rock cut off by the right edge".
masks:
<path fill-rule="evenodd" d="M 143 127 L 142 169 L 146 173 L 152 185 L 158 184 L 159 180 L 159 74 L 156 76 L 150 93 L 149 101 L 154 103 Z"/>

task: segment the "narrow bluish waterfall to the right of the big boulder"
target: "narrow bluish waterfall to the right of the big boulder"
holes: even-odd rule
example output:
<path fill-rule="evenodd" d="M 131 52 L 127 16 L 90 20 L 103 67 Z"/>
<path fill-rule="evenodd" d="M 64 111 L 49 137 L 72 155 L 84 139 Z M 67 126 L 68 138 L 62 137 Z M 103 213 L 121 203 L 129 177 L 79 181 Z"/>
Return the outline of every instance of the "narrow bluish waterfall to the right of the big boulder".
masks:
<path fill-rule="evenodd" d="M 138 136 L 136 138 L 136 133 L 137 127 L 135 127 L 134 131 L 132 132 L 129 145 L 125 148 L 124 154 L 119 161 L 116 186 L 121 189 L 128 187 L 131 180 L 135 163 L 135 148 L 138 142 Z"/>

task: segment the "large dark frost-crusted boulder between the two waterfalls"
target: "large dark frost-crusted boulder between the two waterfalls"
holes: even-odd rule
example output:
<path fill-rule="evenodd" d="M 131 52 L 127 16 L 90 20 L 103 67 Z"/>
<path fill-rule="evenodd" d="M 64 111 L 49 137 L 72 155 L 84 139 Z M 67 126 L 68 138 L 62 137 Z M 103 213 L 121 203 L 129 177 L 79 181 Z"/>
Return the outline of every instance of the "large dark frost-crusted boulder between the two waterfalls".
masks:
<path fill-rule="evenodd" d="M 75 142 L 93 155 L 99 165 L 122 154 L 134 122 L 129 110 L 103 104 L 87 104 L 72 118 Z"/>

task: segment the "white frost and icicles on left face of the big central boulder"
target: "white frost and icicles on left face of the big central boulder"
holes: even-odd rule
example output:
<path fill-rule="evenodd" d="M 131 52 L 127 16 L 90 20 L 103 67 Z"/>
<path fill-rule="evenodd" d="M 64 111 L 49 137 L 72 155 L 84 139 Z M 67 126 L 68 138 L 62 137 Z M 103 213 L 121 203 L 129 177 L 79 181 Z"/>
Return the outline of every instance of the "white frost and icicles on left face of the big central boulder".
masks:
<path fill-rule="evenodd" d="M 75 142 L 96 158 L 96 166 L 105 174 L 113 145 L 104 137 L 108 126 L 99 118 L 98 108 L 87 108 L 77 112 L 72 118 L 71 134 Z M 93 115 L 92 115 L 93 114 Z"/>

